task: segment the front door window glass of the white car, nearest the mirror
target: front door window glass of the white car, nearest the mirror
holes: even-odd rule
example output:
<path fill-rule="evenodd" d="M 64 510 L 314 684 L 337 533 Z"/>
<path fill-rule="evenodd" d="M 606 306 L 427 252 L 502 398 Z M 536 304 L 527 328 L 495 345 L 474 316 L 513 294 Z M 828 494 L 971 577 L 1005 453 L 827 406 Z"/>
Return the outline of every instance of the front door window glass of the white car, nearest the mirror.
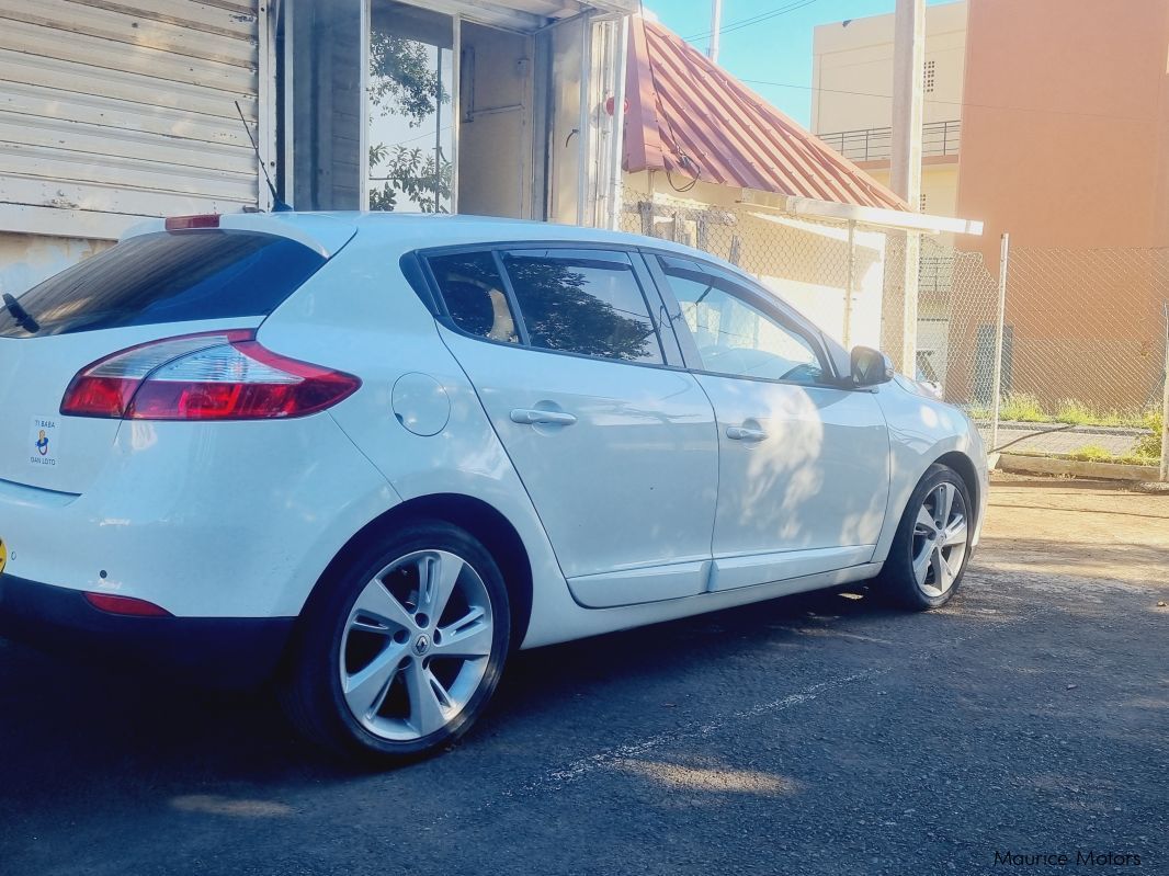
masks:
<path fill-rule="evenodd" d="M 812 342 L 748 304 L 733 283 L 698 264 L 658 260 L 694 336 L 704 370 L 805 384 L 823 377 L 824 363 Z"/>

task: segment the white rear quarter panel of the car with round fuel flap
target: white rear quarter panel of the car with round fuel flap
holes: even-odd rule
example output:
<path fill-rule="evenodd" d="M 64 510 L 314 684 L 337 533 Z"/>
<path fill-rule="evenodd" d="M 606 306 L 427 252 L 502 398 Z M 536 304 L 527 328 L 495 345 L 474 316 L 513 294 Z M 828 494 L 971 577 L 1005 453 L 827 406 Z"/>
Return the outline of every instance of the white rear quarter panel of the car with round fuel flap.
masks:
<path fill-rule="evenodd" d="M 330 415 L 396 496 L 408 501 L 437 494 L 470 495 L 512 523 L 532 566 L 527 644 L 533 637 L 546 635 L 546 628 L 563 612 L 582 610 L 568 595 L 535 508 L 471 382 L 399 269 L 403 251 L 440 242 L 431 238 L 388 246 L 386 239 L 380 234 L 359 232 L 264 322 L 258 340 L 283 355 L 361 377 L 361 389 Z M 447 411 L 445 423 L 433 434 L 407 427 L 411 405 L 402 402 L 401 392 L 395 411 L 394 388 L 407 375 L 415 387 L 433 385 L 431 397 L 424 402 L 431 424 L 443 419 L 435 411 Z"/>

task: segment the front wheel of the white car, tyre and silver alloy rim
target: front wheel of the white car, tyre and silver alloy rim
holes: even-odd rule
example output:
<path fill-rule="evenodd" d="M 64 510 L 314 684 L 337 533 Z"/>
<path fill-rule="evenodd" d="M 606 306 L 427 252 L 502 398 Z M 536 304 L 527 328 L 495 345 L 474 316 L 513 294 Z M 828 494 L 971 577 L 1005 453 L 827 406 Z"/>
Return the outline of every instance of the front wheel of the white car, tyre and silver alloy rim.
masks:
<path fill-rule="evenodd" d="M 957 472 L 932 465 L 909 496 L 879 591 L 901 607 L 945 605 L 962 583 L 970 556 L 970 492 Z"/>

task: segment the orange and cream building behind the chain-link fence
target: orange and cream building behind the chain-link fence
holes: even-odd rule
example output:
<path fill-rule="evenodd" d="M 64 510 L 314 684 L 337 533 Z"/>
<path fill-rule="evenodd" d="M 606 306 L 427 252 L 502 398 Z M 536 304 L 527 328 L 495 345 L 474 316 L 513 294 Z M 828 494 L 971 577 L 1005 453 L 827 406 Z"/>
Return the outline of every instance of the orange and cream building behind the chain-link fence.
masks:
<path fill-rule="evenodd" d="M 817 28 L 815 125 L 830 142 L 851 118 L 870 146 L 888 124 L 891 100 L 872 95 L 880 91 L 874 72 L 892 62 L 892 15 Z M 1001 234 L 1010 232 L 1004 389 L 1049 406 L 1074 399 L 1134 409 L 1158 399 L 1161 303 L 1169 299 L 1169 250 L 1158 249 L 1169 248 L 1169 0 L 929 6 L 926 58 L 924 190 L 943 169 L 934 165 L 956 166 L 954 215 L 984 222 L 983 237 L 961 245 L 980 250 L 991 272 Z M 949 123 L 960 137 L 947 154 L 929 155 L 941 119 L 960 119 Z M 860 135 L 850 138 L 859 148 Z M 879 164 L 870 169 L 878 176 Z M 940 199 L 929 209 L 946 207 Z M 980 370 L 974 360 L 985 357 L 988 328 L 950 325 L 959 382 Z M 971 388 L 948 382 L 947 392 Z"/>

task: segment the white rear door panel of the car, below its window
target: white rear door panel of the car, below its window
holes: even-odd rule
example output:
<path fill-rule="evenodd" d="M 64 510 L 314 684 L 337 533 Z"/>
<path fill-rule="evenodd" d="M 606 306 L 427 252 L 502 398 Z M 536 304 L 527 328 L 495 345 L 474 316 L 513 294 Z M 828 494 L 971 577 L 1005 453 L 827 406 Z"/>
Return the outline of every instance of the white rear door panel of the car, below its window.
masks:
<path fill-rule="evenodd" d="M 443 338 L 478 391 L 566 576 L 710 559 L 718 442 L 711 403 L 692 375 L 484 343 L 448 329 Z M 511 415 L 519 410 L 563 412 L 576 422 L 516 423 Z M 689 589 L 687 576 L 675 580 L 679 589 L 670 596 L 701 592 Z"/>

